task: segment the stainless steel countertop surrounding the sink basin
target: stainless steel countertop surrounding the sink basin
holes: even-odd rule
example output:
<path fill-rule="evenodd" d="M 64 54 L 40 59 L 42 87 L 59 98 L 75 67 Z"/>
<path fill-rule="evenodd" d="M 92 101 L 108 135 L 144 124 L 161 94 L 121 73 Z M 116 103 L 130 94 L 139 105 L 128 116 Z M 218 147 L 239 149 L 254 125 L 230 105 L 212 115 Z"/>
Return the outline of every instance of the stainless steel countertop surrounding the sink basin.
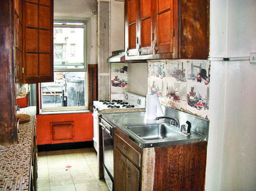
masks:
<path fill-rule="evenodd" d="M 134 136 L 126 126 L 131 125 L 145 125 L 145 124 L 155 124 L 164 123 L 165 119 L 160 120 L 149 120 L 145 117 L 145 111 L 141 112 L 125 112 L 125 113 L 113 113 L 113 114 L 102 114 L 102 118 L 106 122 L 110 123 L 114 128 L 121 130 L 125 136 L 130 138 L 134 143 L 136 143 L 141 148 L 149 147 L 159 147 L 159 146 L 169 146 L 169 145 L 179 145 L 179 144 L 189 144 L 207 141 L 207 137 L 200 135 L 194 131 L 191 131 L 191 136 L 184 136 L 184 138 L 179 139 L 157 139 L 157 140 L 142 140 L 137 136 Z"/>

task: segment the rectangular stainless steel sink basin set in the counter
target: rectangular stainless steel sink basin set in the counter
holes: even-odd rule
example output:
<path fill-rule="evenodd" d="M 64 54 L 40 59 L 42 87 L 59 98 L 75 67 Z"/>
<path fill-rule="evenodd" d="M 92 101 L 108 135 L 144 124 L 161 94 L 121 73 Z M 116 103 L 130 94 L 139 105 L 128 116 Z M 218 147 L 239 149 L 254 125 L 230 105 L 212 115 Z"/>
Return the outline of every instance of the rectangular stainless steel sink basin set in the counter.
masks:
<path fill-rule="evenodd" d="M 176 131 L 170 125 L 165 124 L 127 126 L 126 129 L 143 140 L 179 139 L 186 136 L 184 133 Z"/>

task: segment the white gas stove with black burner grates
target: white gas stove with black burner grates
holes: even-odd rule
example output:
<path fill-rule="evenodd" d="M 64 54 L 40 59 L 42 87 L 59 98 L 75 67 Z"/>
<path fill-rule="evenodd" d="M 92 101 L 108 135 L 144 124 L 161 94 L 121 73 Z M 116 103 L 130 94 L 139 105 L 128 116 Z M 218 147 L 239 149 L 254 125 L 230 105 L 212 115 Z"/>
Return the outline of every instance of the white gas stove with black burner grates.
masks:
<path fill-rule="evenodd" d="M 145 111 L 146 97 L 133 93 L 125 93 L 124 100 L 105 100 L 93 102 L 93 145 L 99 151 L 99 115 L 114 112 Z"/>

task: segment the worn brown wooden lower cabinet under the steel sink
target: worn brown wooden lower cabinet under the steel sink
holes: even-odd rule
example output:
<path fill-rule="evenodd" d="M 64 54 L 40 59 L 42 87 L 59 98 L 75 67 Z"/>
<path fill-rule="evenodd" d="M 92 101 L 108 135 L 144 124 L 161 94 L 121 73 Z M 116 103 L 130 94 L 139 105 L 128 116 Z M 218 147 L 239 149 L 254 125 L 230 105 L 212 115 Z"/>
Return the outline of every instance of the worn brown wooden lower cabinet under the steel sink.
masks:
<path fill-rule="evenodd" d="M 204 190 L 206 151 L 207 142 L 142 149 L 116 130 L 114 190 Z"/>

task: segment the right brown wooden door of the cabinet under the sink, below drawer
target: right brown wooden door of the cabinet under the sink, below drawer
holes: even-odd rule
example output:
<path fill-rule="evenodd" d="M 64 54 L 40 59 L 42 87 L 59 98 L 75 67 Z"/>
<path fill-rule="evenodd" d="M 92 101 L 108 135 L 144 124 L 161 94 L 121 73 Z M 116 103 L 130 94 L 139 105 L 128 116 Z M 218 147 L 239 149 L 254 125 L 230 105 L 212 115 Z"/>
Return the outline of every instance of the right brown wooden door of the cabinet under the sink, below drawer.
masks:
<path fill-rule="evenodd" d="M 139 190 L 139 170 L 126 159 L 126 190 Z"/>

